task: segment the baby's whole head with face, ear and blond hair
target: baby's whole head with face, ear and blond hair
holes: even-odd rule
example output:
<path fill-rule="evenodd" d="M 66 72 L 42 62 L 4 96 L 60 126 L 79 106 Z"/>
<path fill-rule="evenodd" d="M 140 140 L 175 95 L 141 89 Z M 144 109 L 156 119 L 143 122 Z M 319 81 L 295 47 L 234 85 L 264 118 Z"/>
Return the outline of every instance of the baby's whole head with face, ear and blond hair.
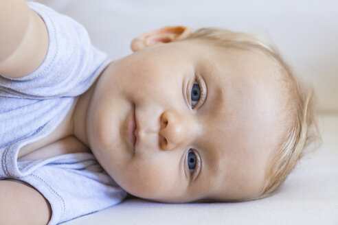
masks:
<path fill-rule="evenodd" d="M 164 27 L 131 47 L 87 113 L 91 150 L 117 184 L 160 202 L 251 200 L 282 184 L 317 126 L 312 88 L 269 43 Z"/>

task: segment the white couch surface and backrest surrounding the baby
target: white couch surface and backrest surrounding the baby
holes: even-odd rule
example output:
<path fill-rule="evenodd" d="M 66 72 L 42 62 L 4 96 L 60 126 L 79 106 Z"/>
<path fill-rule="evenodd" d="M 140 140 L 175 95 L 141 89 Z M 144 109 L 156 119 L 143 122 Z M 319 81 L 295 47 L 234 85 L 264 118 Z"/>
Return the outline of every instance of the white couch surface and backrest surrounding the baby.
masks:
<path fill-rule="evenodd" d="M 45 0 L 82 23 L 111 58 L 133 37 L 166 25 L 226 27 L 270 38 L 313 83 L 324 144 L 300 161 L 278 193 L 240 203 L 159 204 L 128 199 L 65 225 L 338 224 L 338 2 L 330 0 Z"/>

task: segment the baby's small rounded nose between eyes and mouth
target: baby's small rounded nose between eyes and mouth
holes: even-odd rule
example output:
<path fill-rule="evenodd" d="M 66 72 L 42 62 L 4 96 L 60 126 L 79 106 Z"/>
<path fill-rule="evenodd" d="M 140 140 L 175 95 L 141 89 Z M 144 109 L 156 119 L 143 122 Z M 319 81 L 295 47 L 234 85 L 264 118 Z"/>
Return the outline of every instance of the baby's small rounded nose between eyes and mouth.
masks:
<path fill-rule="evenodd" d="M 165 111 L 161 115 L 160 146 L 163 150 L 172 150 L 186 145 L 194 138 L 194 122 L 185 115 Z"/>

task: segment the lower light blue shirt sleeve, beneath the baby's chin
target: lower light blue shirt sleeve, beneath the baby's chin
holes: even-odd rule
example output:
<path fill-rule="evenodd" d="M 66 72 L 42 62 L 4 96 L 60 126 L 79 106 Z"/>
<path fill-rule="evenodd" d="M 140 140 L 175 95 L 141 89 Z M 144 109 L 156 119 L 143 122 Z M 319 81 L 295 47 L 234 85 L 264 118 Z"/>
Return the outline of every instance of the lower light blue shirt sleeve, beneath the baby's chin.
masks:
<path fill-rule="evenodd" d="M 48 225 L 74 220 L 119 204 L 124 191 L 89 153 L 75 153 L 39 161 L 19 161 L 27 176 L 16 178 L 36 188 L 49 202 Z"/>

